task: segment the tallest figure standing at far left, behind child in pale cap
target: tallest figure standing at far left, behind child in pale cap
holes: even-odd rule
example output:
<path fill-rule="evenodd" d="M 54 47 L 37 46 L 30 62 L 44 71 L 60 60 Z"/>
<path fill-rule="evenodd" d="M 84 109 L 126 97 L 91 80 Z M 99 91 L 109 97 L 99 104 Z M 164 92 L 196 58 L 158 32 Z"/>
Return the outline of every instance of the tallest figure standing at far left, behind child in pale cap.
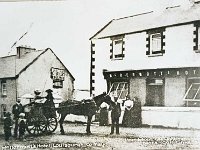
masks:
<path fill-rule="evenodd" d="M 21 99 L 17 99 L 17 103 L 12 107 L 12 113 L 14 115 L 15 121 L 15 128 L 14 128 L 14 137 L 17 138 L 18 136 L 18 129 L 19 129 L 19 114 L 23 113 L 23 106 L 21 104 Z"/>

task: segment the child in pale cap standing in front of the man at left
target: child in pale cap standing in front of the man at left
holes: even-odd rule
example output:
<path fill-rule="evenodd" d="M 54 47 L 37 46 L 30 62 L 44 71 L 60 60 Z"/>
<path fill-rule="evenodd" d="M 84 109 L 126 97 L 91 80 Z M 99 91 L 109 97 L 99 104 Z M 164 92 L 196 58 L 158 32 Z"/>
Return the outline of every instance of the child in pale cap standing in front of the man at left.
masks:
<path fill-rule="evenodd" d="M 25 114 L 20 113 L 19 117 L 19 139 L 23 140 L 26 131 L 26 119 L 24 118 Z"/>

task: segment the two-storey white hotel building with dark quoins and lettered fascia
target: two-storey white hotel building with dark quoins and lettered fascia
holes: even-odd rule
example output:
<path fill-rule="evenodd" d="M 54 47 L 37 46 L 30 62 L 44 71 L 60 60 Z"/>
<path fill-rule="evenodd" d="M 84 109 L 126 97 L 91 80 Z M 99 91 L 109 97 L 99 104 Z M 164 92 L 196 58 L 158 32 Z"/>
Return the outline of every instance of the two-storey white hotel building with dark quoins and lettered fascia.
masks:
<path fill-rule="evenodd" d="M 91 37 L 92 95 L 142 104 L 142 124 L 200 128 L 200 4 L 113 19 Z"/>

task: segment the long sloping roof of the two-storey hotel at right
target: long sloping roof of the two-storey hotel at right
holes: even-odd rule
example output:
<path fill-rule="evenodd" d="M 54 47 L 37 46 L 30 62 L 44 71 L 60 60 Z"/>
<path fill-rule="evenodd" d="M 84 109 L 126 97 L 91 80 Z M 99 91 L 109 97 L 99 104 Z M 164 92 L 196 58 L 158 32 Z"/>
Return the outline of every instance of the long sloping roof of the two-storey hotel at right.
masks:
<path fill-rule="evenodd" d="M 168 7 L 162 12 L 146 12 L 111 20 L 90 39 L 101 39 L 121 34 L 131 34 L 149 29 L 173 26 L 200 20 L 200 4 L 188 9 Z"/>

